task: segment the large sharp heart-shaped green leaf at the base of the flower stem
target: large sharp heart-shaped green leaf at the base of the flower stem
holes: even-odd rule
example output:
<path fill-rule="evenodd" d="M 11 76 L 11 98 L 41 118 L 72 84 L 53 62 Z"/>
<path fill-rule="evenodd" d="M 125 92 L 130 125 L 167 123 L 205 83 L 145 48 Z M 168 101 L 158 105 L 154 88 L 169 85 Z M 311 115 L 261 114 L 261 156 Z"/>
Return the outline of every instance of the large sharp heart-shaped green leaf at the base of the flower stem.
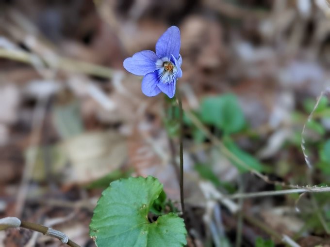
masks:
<path fill-rule="evenodd" d="M 186 244 L 183 219 L 174 213 L 152 223 L 148 213 L 163 185 L 151 176 L 114 181 L 102 192 L 89 225 L 98 247 L 181 247 Z"/>

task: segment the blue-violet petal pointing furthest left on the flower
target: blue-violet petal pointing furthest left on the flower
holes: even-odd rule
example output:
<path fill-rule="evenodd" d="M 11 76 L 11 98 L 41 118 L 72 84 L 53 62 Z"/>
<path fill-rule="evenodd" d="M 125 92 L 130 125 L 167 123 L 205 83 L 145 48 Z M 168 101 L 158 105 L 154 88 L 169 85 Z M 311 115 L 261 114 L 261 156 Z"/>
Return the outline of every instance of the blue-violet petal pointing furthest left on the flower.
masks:
<path fill-rule="evenodd" d="M 136 76 L 144 76 L 156 70 L 157 55 L 151 50 L 135 53 L 132 58 L 124 60 L 124 68 Z"/>

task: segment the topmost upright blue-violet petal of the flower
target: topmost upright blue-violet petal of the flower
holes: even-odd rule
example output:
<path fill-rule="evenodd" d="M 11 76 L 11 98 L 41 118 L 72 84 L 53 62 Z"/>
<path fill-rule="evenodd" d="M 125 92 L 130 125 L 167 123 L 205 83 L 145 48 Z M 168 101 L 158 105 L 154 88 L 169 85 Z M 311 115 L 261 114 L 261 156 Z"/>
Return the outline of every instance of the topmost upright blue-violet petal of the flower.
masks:
<path fill-rule="evenodd" d="M 179 57 L 180 51 L 180 30 L 176 26 L 168 28 L 158 39 L 156 44 L 156 54 L 160 58 Z"/>

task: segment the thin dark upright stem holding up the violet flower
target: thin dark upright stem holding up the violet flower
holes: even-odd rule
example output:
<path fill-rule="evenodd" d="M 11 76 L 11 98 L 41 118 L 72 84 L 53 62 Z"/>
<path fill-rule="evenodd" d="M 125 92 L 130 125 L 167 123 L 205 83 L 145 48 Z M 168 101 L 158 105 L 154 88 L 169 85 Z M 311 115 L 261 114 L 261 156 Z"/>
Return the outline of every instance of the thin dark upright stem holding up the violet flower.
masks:
<path fill-rule="evenodd" d="M 181 95 L 178 93 L 179 102 L 179 122 L 180 122 L 180 201 L 182 214 L 184 214 L 184 196 L 183 196 L 183 109 Z"/>

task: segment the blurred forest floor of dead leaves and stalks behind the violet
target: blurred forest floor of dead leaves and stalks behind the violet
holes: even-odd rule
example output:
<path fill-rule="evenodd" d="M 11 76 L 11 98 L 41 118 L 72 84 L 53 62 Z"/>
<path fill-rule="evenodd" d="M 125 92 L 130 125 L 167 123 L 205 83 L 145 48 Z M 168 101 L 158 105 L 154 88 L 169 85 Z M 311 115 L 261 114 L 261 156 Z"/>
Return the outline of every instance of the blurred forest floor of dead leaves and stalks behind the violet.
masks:
<path fill-rule="evenodd" d="M 284 246 L 276 234 L 286 234 L 329 246 L 329 193 L 236 200 L 237 214 L 208 196 L 330 182 L 327 0 L 0 1 L 0 217 L 92 247 L 101 191 L 131 175 L 157 177 L 180 209 L 177 108 L 143 95 L 122 66 L 171 25 L 188 245 Z M 322 92 L 303 135 L 310 170 L 301 132 Z M 23 229 L 0 232 L 1 244 L 64 246 Z"/>

